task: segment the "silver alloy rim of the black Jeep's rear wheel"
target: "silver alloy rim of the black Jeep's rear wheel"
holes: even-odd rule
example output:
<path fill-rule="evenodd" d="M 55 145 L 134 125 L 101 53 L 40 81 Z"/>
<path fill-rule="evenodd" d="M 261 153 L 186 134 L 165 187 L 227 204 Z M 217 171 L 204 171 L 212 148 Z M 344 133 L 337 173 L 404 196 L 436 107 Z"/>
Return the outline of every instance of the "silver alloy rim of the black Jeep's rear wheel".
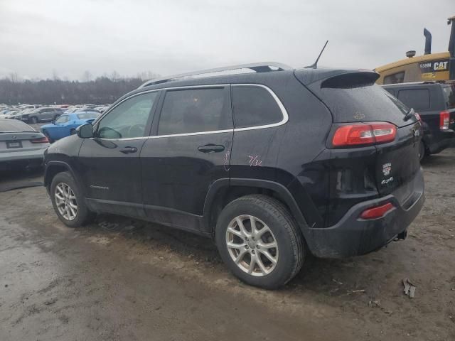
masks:
<path fill-rule="evenodd" d="M 277 266 L 277 239 L 267 224 L 252 215 L 240 215 L 230 222 L 226 246 L 232 261 L 252 276 L 266 276 Z"/>

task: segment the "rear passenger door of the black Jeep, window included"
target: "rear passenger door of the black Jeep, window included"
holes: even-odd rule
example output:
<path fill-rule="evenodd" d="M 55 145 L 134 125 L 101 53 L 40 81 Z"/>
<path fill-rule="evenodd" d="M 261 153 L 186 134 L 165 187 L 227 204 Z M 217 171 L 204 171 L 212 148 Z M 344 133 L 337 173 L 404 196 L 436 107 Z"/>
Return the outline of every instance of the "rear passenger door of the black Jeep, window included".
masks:
<path fill-rule="evenodd" d="M 141 151 L 146 215 L 174 227 L 200 229 L 210 185 L 229 179 L 230 87 L 166 90 L 161 108 L 154 136 Z"/>

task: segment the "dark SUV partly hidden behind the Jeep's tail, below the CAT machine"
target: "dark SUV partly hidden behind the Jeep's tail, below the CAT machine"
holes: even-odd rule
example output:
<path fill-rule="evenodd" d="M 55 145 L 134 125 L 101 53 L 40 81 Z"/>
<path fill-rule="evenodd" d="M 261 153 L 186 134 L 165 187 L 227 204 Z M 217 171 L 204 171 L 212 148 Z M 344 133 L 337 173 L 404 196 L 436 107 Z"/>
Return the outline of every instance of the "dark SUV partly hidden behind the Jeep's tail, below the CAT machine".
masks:
<path fill-rule="evenodd" d="M 384 85 L 384 89 L 422 118 L 421 159 L 455 146 L 455 83 L 401 83 Z"/>

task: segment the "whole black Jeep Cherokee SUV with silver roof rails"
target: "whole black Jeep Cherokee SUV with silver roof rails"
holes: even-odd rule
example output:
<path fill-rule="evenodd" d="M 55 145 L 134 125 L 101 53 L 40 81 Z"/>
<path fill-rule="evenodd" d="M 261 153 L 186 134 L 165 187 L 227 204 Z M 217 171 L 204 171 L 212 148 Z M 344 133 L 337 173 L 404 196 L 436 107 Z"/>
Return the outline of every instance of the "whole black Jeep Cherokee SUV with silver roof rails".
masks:
<path fill-rule="evenodd" d="M 50 146 L 60 220 L 111 212 L 213 237 L 230 270 L 264 288 L 308 252 L 404 238 L 424 203 L 417 117 L 375 72 L 267 65 L 146 82 Z"/>

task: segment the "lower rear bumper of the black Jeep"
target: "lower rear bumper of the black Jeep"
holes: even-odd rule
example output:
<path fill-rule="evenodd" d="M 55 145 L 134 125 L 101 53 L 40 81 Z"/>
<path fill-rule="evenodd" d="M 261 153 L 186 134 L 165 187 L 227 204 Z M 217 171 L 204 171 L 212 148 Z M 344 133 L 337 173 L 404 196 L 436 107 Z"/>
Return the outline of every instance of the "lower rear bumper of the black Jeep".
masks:
<path fill-rule="evenodd" d="M 375 251 L 405 232 L 424 205 L 424 180 L 422 171 L 405 185 L 413 188 L 412 195 L 405 200 L 399 188 L 394 193 L 375 200 L 360 202 L 350 208 L 336 225 L 322 229 L 308 229 L 306 242 L 310 251 L 321 258 L 343 258 Z M 367 208 L 392 202 L 394 209 L 374 220 L 360 219 Z M 401 203 L 400 203 L 401 202 Z"/>

